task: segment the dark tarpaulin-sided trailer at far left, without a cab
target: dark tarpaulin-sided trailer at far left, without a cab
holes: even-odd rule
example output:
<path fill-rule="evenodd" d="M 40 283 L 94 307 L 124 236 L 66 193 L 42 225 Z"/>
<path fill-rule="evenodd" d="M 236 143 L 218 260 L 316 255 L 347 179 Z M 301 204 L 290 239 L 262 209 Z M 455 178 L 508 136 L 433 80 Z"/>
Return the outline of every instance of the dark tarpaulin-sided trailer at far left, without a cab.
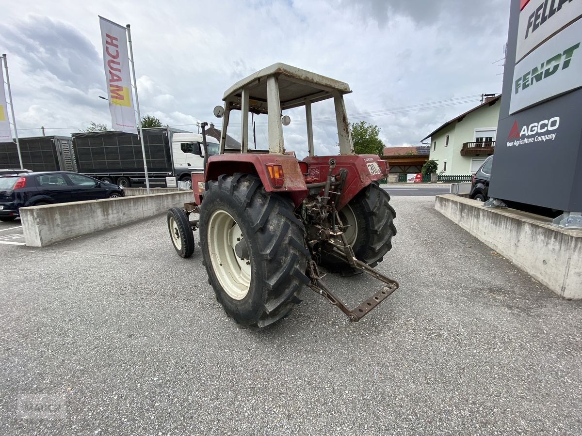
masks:
<path fill-rule="evenodd" d="M 40 136 L 20 138 L 24 169 L 33 171 L 77 171 L 71 138 Z M 20 168 L 15 142 L 0 142 L 0 168 Z"/>

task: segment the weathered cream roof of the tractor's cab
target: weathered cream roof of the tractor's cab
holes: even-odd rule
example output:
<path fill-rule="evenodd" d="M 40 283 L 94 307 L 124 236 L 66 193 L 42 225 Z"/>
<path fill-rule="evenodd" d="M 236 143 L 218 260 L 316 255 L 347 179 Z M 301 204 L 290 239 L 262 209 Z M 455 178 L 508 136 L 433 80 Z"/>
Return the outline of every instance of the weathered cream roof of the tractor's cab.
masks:
<path fill-rule="evenodd" d="M 240 109 L 242 90 L 249 91 L 249 109 L 254 113 L 267 113 L 267 78 L 279 78 L 281 110 L 332 98 L 333 94 L 348 94 L 350 86 L 333 78 L 321 76 L 285 63 L 274 63 L 249 77 L 239 80 L 224 93 L 223 100 Z"/>

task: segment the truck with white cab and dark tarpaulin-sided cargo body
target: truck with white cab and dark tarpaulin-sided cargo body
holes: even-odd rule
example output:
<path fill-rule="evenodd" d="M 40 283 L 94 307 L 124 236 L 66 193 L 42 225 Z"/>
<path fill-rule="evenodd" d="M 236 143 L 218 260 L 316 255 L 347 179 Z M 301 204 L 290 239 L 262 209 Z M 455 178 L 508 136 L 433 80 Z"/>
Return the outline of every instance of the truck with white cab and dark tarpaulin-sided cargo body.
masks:
<path fill-rule="evenodd" d="M 202 135 L 170 127 L 144 128 L 144 148 L 150 185 L 165 187 L 176 177 L 191 187 L 191 174 L 204 171 L 204 156 L 194 154 Z M 74 133 L 73 150 L 79 173 L 124 188 L 145 185 L 139 135 L 120 131 Z M 219 152 L 218 141 L 208 138 L 208 154 Z"/>

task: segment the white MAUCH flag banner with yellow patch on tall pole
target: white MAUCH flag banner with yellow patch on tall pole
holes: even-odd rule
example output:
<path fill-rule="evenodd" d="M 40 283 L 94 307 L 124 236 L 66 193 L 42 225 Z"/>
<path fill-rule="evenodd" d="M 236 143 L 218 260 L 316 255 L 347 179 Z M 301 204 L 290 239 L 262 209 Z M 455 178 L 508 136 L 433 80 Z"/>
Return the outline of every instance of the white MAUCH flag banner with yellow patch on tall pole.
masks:
<path fill-rule="evenodd" d="M 127 29 L 101 16 L 99 20 L 111 128 L 137 134 L 129 56 L 127 55 Z"/>

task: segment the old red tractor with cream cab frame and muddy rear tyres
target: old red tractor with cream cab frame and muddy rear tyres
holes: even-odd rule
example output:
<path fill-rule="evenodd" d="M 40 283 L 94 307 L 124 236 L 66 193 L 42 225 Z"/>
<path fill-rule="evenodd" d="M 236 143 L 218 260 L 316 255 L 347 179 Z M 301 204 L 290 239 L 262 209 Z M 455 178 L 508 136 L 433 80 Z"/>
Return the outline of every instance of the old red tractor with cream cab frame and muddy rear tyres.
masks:
<path fill-rule="evenodd" d="M 203 264 L 226 314 L 243 327 L 262 328 L 289 315 L 310 287 L 358 321 L 398 288 L 372 269 L 392 248 L 396 213 L 377 181 L 388 174 L 377 155 L 356 155 L 343 95 L 347 83 L 276 63 L 244 78 L 224 94 L 221 151 L 204 155 L 193 174 L 194 203 L 168 212 L 180 256 L 194 250 L 200 229 Z M 315 156 L 311 103 L 333 98 L 339 155 Z M 305 106 L 309 156 L 285 153 L 286 109 Z M 241 149 L 225 149 L 230 113 L 240 111 Z M 267 114 L 268 150 L 249 148 L 249 113 Z M 204 128 L 204 126 L 203 126 Z M 204 130 L 203 130 L 204 135 Z M 190 220 L 190 215 L 199 219 Z M 327 270 L 366 273 L 384 283 L 350 310 L 322 281 Z"/>

